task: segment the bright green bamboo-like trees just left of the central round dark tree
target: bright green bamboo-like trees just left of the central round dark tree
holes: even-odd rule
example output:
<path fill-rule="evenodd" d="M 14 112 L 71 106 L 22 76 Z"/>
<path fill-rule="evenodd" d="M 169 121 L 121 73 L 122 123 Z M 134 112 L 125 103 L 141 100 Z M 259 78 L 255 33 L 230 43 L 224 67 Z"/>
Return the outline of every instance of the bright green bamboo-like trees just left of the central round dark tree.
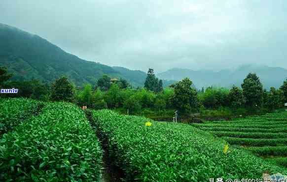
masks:
<path fill-rule="evenodd" d="M 157 108 L 159 111 L 166 109 L 167 105 L 171 105 L 169 104 L 171 95 L 173 95 L 172 89 L 155 94 L 146 89 L 121 89 L 117 84 L 111 84 L 108 91 L 101 91 L 99 88 L 93 91 L 91 85 L 87 84 L 76 98 L 79 105 L 95 109 L 125 108 L 129 113 L 136 113 L 141 108 Z"/>

